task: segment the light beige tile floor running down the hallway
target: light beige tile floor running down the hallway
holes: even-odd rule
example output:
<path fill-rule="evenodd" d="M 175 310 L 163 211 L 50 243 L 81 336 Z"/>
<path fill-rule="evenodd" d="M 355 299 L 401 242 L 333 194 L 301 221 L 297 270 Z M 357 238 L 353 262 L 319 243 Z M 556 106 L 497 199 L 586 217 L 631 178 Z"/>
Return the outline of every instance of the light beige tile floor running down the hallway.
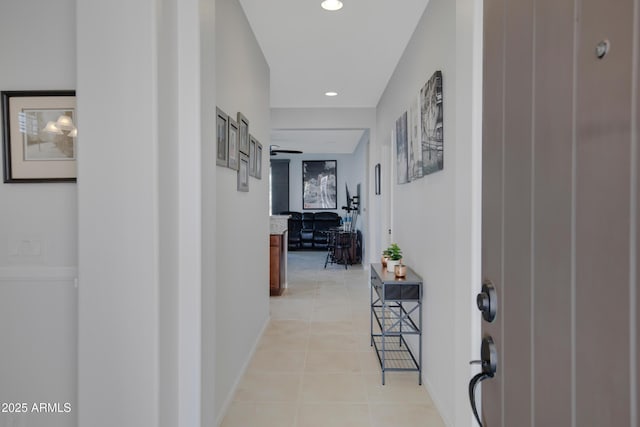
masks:
<path fill-rule="evenodd" d="M 444 426 L 416 372 L 390 372 L 369 345 L 369 272 L 323 269 L 325 253 L 290 252 L 289 288 L 222 427 Z"/>

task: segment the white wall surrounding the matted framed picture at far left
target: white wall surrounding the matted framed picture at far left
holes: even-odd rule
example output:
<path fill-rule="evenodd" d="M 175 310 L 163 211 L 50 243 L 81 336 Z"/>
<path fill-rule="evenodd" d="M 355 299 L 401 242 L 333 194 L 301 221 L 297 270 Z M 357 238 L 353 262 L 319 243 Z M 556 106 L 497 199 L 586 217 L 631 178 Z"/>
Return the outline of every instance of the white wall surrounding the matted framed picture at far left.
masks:
<path fill-rule="evenodd" d="M 0 90 L 76 88 L 75 1 L 0 3 Z M 0 184 L 0 402 L 70 402 L 0 425 L 76 423 L 77 198 L 74 183 Z M 17 256 L 23 240 L 40 246 Z"/>

